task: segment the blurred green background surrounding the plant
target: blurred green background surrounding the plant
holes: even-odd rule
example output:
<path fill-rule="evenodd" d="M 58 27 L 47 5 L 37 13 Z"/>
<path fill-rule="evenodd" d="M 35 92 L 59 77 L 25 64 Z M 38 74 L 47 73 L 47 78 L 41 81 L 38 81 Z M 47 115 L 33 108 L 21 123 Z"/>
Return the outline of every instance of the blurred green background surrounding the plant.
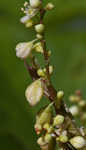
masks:
<path fill-rule="evenodd" d="M 45 0 L 46 2 L 46 0 Z M 86 0 L 52 0 L 46 40 L 55 66 L 53 84 L 65 91 L 76 89 L 86 98 Z M 32 40 L 34 32 L 20 24 L 24 0 L 0 0 L 0 149 L 38 150 L 34 132 L 35 114 L 46 101 L 31 108 L 24 91 L 31 83 L 22 61 L 16 58 L 18 42 Z"/>

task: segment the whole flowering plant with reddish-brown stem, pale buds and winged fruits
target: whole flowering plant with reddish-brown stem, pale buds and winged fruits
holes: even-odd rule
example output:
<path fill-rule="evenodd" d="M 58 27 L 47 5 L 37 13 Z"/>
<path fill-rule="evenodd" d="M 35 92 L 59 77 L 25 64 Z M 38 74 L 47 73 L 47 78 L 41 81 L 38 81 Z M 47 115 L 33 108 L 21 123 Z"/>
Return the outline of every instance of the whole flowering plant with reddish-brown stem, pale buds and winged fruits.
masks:
<path fill-rule="evenodd" d="M 39 135 L 37 143 L 42 150 L 54 150 L 56 145 L 60 150 L 86 150 L 86 129 L 78 127 L 74 120 L 74 116 L 79 114 L 83 114 L 83 117 L 80 117 L 82 121 L 86 119 L 86 102 L 82 100 L 80 91 L 77 91 L 69 99 L 78 105 L 68 109 L 64 102 L 64 92 L 57 91 L 51 82 L 53 66 L 50 65 L 51 51 L 46 46 L 43 20 L 45 14 L 52 9 L 54 5 L 50 2 L 44 6 L 43 0 L 29 0 L 21 8 L 24 13 L 24 17 L 20 19 L 21 23 L 27 28 L 33 28 L 36 33 L 32 41 L 16 46 L 16 56 L 24 61 L 33 80 L 25 91 L 25 97 L 31 106 L 37 105 L 43 96 L 50 101 L 49 105 L 37 113 L 34 125 Z M 36 53 L 43 56 L 44 67 L 39 64 Z"/>

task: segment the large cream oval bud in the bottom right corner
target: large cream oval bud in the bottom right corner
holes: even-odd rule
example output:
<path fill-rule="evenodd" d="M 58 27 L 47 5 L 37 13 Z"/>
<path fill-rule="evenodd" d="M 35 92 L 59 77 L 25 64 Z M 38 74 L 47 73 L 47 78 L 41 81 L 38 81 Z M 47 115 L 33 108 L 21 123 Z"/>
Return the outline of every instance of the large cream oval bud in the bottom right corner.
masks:
<path fill-rule="evenodd" d="M 83 148 L 86 146 L 86 140 L 82 136 L 76 136 L 70 139 L 70 143 L 76 148 Z"/>

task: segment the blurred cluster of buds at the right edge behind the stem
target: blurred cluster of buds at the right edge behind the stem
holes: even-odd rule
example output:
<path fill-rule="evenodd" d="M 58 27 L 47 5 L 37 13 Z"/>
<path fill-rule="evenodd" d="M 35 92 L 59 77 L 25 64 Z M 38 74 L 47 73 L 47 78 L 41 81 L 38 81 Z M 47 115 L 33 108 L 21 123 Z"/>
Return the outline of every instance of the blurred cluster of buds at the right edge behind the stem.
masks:
<path fill-rule="evenodd" d="M 76 91 L 74 95 L 69 97 L 69 100 L 72 102 L 72 106 L 69 108 L 71 114 L 74 117 L 79 117 L 80 120 L 86 122 L 86 100 L 83 99 L 80 91 Z"/>

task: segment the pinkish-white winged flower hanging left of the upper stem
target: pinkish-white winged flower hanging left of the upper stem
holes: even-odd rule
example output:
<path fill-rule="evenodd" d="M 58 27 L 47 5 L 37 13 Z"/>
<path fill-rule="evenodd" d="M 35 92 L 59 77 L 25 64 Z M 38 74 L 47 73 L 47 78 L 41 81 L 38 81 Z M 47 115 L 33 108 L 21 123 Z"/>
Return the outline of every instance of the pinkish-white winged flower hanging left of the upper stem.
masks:
<path fill-rule="evenodd" d="M 24 42 L 24 43 L 19 43 L 16 46 L 16 56 L 25 59 L 27 58 L 33 49 L 33 42 Z"/>

